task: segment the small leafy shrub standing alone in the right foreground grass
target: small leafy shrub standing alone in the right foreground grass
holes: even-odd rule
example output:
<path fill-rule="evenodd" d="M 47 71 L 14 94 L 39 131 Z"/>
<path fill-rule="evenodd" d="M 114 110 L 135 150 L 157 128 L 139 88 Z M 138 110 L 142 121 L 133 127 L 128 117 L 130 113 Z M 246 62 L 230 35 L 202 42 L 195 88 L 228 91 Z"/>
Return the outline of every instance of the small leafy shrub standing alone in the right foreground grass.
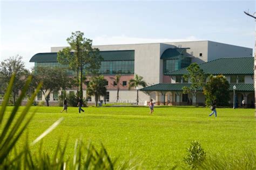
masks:
<path fill-rule="evenodd" d="M 185 163 L 191 169 L 197 169 L 205 160 L 206 153 L 198 141 L 192 141 L 191 146 L 187 148 L 187 155 L 184 158 Z"/>

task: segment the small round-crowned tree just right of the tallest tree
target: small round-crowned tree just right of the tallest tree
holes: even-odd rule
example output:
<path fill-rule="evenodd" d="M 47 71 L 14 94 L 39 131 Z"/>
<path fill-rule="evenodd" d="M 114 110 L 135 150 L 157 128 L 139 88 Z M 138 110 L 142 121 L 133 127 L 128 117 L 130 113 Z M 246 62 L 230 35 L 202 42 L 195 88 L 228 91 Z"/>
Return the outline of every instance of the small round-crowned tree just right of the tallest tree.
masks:
<path fill-rule="evenodd" d="M 100 96 L 106 95 L 105 79 L 103 75 L 92 77 L 86 89 L 87 96 L 95 96 L 95 106 L 98 106 Z"/>

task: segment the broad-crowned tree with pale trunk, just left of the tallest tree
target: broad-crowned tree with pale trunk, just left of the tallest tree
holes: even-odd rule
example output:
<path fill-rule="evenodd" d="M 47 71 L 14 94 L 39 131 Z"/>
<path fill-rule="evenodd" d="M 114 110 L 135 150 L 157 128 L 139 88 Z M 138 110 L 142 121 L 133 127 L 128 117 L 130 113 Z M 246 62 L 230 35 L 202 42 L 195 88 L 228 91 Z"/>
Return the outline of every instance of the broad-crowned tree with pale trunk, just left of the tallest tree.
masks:
<path fill-rule="evenodd" d="M 52 91 L 66 90 L 73 84 L 73 79 L 68 76 L 66 70 L 58 67 L 37 67 L 33 77 L 33 87 L 37 87 L 39 82 L 43 82 L 41 91 L 47 106 L 49 106 Z"/>

